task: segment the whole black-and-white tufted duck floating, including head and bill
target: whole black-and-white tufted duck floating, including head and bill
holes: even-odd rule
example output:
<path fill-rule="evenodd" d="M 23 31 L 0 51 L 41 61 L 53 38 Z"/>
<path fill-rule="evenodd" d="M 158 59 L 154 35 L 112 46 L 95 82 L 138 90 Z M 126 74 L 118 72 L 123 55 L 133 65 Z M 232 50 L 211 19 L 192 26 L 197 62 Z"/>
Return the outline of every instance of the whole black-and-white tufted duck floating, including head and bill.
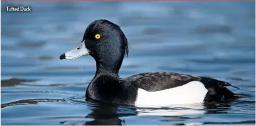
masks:
<path fill-rule="evenodd" d="M 60 59 L 91 55 L 97 71 L 86 97 L 105 103 L 168 106 L 239 98 L 225 87 L 232 86 L 228 82 L 207 77 L 161 72 L 122 79 L 118 71 L 125 54 L 128 55 L 128 42 L 120 27 L 108 20 L 96 20 L 85 30 L 81 45 Z"/>

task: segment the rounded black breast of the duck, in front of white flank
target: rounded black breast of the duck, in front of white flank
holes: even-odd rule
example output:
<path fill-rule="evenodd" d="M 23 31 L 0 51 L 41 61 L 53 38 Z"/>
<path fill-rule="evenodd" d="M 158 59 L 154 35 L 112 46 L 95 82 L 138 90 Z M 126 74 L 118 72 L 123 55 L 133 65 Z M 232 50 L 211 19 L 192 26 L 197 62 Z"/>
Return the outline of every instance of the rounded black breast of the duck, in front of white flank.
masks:
<path fill-rule="evenodd" d="M 110 76 L 99 76 L 87 87 L 86 97 L 105 103 L 134 105 L 137 88 L 132 84 Z"/>

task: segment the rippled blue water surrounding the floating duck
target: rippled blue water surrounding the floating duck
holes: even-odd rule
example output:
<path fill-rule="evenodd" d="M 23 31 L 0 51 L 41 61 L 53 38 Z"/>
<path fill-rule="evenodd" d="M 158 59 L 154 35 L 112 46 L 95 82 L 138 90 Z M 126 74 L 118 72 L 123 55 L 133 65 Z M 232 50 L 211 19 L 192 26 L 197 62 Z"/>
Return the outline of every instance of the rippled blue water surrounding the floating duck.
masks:
<path fill-rule="evenodd" d="M 29 5 L 31 13 L 7 13 Z M 1 125 L 255 125 L 255 2 L 1 2 Z M 130 44 L 121 77 L 170 71 L 226 80 L 247 94 L 212 106 L 85 102 L 92 57 L 60 61 L 107 18 Z"/>

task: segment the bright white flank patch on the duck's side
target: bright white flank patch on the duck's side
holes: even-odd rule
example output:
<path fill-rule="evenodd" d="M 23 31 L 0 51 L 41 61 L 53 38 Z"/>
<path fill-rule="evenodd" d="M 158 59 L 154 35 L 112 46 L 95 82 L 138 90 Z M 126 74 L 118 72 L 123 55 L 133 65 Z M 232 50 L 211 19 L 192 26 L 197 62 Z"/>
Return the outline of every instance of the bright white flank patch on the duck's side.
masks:
<path fill-rule="evenodd" d="M 153 107 L 201 103 L 207 92 L 204 84 L 199 81 L 191 81 L 183 86 L 157 92 L 148 92 L 139 88 L 135 106 Z"/>

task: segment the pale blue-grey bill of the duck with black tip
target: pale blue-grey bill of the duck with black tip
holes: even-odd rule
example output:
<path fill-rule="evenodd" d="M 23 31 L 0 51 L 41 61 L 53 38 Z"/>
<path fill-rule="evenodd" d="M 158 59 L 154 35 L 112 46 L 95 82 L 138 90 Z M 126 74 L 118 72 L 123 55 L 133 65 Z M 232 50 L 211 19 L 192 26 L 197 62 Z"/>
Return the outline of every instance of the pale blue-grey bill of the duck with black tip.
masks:
<path fill-rule="evenodd" d="M 60 60 L 62 59 L 76 59 L 78 57 L 81 57 L 83 55 L 88 55 L 89 51 L 85 47 L 85 42 L 82 42 L 78 47 L 75 47 L 75 49 L 71 49 L 70 51 L 67 51 L 66 53 L 63 53 L 60 55 Z"/>

